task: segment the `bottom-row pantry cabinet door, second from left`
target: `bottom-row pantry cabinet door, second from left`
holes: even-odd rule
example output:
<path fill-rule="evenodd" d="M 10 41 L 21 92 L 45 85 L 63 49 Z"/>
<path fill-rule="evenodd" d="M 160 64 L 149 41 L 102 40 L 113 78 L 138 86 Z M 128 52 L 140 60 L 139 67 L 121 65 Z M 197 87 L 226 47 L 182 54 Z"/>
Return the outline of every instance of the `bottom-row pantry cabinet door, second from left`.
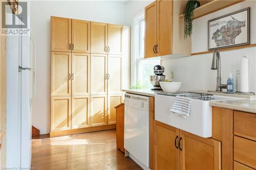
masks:
<path fill-rule="evenodd" d="M 90 126 L 90 97 L 72 96 L 72 129 Z"/>

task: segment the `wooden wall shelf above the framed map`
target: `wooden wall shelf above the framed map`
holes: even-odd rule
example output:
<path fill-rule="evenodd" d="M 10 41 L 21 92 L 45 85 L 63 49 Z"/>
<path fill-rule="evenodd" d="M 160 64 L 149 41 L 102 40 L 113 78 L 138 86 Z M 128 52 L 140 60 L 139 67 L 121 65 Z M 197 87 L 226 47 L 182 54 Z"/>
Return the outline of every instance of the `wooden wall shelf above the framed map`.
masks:
<path fill-rule="evenodd" d="M 204 15 L 219 11 L 223 8 L 230 7 L 234 4 L 241 3 L 245 0 L 214 0 L 210 1 L 207 4 L 204 4 L 194 11 L 194 19 L 202 17 Z M 179 17 L 184 17 L 184 15 L 180 15 Z"/>

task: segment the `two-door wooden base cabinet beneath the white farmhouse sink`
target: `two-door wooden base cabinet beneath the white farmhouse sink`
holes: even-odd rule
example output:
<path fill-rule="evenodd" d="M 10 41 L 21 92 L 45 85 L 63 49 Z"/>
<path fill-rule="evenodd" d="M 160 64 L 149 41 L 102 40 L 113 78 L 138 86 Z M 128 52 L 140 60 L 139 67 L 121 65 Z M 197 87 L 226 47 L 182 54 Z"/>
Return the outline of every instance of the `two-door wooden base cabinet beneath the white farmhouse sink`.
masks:
<path fill-rule="evenodd" d="M 154 170 L 221 169 L 221 142 L 154 120 Z"/>

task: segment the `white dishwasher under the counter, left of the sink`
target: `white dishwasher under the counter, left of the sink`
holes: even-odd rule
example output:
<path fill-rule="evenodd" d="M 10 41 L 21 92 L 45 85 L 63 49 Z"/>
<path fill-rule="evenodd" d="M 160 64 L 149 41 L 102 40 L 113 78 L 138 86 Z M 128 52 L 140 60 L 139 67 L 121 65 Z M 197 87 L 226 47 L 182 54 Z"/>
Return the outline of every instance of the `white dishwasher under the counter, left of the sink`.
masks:
<path fill-rule="evenodd" d="M 124 149 L 143 169 L 148 169 L 149 98 L 125 93 L 124 104 Z"/>

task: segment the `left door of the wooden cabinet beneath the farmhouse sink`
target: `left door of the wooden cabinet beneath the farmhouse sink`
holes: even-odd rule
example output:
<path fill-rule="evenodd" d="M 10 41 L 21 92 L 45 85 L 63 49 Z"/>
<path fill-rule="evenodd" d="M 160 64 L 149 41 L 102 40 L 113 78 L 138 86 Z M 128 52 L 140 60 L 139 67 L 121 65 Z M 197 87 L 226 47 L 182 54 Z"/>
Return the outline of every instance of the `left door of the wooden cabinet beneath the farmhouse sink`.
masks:
<path fill-rule="evenodd" d="M 154 121 L 154 169 L 155 170 L 178 170 L 179 129 Z"/>

